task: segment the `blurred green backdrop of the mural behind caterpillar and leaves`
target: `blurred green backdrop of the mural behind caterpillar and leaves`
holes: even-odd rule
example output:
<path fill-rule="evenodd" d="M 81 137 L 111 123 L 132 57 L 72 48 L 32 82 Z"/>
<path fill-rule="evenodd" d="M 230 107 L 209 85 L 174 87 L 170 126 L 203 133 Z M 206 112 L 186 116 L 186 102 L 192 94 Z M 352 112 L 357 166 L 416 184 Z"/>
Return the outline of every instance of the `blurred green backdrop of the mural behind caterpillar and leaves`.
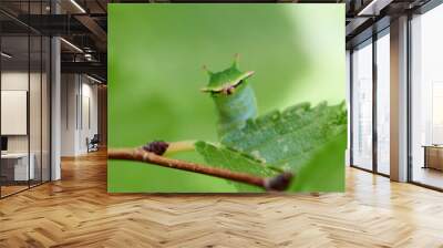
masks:
<path fill-rule="evenodd" d="M 109 146 L 217 141 L 215 107 L 199 91 L 240 54 L 259 114 L 342 102 L 344 4 L 109 4 Z M 343 151 L 344 153 L 344 151 Z M 196 153 L 178 158 L 203 162 Z M 343 162 L 344 164 L 344 162 Z M 109 161 L 109 192 L 231 193 L 224 179 Z M 340 165 L 341 166 L 341 165 Z"/>

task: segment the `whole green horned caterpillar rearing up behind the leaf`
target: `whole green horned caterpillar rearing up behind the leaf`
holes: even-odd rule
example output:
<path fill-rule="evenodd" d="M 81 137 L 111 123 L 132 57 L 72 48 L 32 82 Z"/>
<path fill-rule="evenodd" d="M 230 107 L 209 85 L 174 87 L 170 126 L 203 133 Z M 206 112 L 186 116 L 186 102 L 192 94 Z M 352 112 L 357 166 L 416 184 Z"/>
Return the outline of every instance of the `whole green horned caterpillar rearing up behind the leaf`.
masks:
<path fill-rule="evenodd" d="M 233 128 L 245 125 L 245 121 L 257 116 L 257 102 L 253 87 L 246 81 L 254 71 L 241 72 L 238 69 L 239 56 L 236 54 L 230 68 L 220 72 L 210 72 L 209 83 L 202 89 L 214 100 L 218 114 L 217 133 L 222 137 Z"/>

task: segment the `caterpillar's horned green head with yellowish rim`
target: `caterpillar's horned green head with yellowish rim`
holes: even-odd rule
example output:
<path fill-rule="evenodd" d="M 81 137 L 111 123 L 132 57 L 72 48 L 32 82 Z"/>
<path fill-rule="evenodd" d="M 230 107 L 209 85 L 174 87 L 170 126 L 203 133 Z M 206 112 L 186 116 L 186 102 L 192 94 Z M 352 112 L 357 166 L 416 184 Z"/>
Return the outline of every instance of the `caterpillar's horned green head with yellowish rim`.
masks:
<path fill-rule="evenodd" d="M 234 63 L 230 68 L 220 72 L 210 72 L 206 66 L 203 69 L 209 75 L 209 83 L 203 87 L 203 92 L 208 92 L 212 95 L 231 95 L 237 89 L 245 84 L 245 80 L 254 74 L 254 71 L 241 72 L 238 69 L 239 55 L 236 54 Z"/>

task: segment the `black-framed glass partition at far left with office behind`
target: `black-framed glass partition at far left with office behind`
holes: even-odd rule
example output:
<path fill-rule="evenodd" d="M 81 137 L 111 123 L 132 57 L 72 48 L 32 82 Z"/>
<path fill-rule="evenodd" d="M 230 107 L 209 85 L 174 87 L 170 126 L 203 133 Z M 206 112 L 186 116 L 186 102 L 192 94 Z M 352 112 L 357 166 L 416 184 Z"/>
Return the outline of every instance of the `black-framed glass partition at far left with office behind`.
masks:
<path fill-rule="evenodd" d="M 44 6 L 20 4 L 22 14 L 41 14 Z M 0 19 L 14 24 L 0 27 L 0 197 L 6 197 L 50 180 L 51 43 L 11 17 Z"/>

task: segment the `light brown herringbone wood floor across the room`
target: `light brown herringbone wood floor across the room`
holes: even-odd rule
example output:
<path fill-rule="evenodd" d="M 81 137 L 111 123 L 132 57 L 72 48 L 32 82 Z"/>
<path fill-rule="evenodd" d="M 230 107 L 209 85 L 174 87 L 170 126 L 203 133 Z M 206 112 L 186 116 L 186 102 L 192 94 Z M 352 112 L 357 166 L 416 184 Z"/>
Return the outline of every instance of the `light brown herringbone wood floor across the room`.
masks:
<path fill-rule="evenodd" d="M 0 247 L 443 247 L 443 194 L 353 168 L 319 197 L 109 195 L 105 159 L 0 200 Z"/>

